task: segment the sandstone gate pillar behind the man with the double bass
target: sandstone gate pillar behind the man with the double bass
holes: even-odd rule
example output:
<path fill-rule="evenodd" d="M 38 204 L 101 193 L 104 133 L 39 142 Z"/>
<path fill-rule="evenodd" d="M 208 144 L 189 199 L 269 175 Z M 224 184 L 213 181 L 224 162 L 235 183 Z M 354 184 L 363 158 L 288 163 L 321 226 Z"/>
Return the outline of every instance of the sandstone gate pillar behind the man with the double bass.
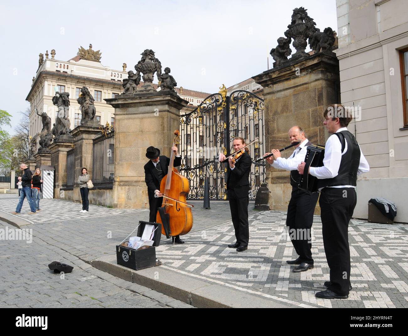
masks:
<path fill-rule="evenodd" d="M 154 146 L 160 155 L 170 156 L 187 101 L 171 91 L 121 94 L 105 101 L 115 108 L 113 207 L 146 208 L 146 148 Z"/>

